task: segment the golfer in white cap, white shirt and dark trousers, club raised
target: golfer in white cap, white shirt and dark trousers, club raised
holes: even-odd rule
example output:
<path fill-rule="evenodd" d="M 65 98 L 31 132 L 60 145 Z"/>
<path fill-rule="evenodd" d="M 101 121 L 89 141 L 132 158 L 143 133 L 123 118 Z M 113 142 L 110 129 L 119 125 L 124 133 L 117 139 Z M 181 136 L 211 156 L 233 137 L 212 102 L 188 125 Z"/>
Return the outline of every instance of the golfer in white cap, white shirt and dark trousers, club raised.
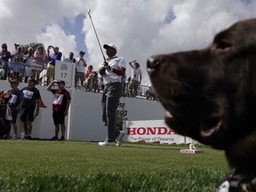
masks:
<path fill-rule="evenodd" d="M 116 56 L 115 44 L 104 44 L 108 55 L 107 61 L 100 64 L 99 73 L 103 76 L 104 90 L 102 92 L 102 121 L 108 126 L 108 137 L 99 142 L 100 146 L 120 146 L 124 131 L 116 129 L 116 109 L 123 94 L 122 76 L 126 70 L 124 58 Z"/>

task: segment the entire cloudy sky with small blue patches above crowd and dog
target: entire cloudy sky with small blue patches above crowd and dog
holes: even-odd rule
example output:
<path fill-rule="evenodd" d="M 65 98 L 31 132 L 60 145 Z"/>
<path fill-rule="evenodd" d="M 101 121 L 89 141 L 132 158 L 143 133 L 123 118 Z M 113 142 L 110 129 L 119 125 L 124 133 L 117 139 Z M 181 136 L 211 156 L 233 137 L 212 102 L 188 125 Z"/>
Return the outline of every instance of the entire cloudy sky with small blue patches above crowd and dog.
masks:
<path fill-rule="evenodd" d="M 98 69 L 103 59 L 88 9 L 100 44 L 138 60 L 145 83 L 148 56 L 204 48 L 220 30 L 256 17 L 256 0 L 0 0 L 0 44 L 9 51 L 14 43 L 52 44 L 65 56 L 83 50 Z"/>

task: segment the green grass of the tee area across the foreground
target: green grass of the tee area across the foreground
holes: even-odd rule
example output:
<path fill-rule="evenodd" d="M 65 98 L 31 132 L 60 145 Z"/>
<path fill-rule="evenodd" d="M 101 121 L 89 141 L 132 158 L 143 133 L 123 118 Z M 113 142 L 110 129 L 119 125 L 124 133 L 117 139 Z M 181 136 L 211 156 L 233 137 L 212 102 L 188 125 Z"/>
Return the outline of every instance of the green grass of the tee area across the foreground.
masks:
<path fill-rule="evenodd" d="M 0 191 L 214 191 L 229 171 L 224 153 L 180 148 L 188 146 L 0 140 Z"/>

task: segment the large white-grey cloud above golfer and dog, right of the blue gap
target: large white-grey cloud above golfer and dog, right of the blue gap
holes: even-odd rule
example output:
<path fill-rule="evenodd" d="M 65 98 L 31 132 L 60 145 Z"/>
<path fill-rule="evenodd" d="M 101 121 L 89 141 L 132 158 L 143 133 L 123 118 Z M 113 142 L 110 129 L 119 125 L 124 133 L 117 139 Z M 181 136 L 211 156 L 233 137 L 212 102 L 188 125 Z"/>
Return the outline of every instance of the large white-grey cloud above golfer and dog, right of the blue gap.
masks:
<path fill-rule="evenodd" d="M 147 81 L 146 60 L 157 53 L 178 52 L 204 48 L 212 37 L 237 20 L 255 17 L 255 1 L 245 5 L 239 0 L 97 1 L 92 20 L 101 44 L 114 43 L 118 55 L 139 60 Z M 176 19 L 164 25 L 170 10 Z M 85 20 L 85 43 L 92 60 L 102 61 L 100 48 Z M 127 68 L 131 74 L 131 68 Z"/>

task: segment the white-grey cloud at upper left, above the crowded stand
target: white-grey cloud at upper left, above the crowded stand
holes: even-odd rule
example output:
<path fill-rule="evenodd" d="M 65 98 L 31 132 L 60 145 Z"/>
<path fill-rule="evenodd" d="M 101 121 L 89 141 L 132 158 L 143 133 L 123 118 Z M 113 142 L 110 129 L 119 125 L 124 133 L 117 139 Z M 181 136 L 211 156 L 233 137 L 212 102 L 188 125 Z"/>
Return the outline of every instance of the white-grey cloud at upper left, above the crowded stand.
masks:
<path fill-rule="evenodd" d="M 67 55 L 76 52 L 76 36 L 65 32 L 64 18 L 75 20 L 76 15 L 84 12 L 85 4 L 90 1 L 77 0 L 0 0 L 0 44 L 29 44 L 33 42 L 60 47 Z"/>

